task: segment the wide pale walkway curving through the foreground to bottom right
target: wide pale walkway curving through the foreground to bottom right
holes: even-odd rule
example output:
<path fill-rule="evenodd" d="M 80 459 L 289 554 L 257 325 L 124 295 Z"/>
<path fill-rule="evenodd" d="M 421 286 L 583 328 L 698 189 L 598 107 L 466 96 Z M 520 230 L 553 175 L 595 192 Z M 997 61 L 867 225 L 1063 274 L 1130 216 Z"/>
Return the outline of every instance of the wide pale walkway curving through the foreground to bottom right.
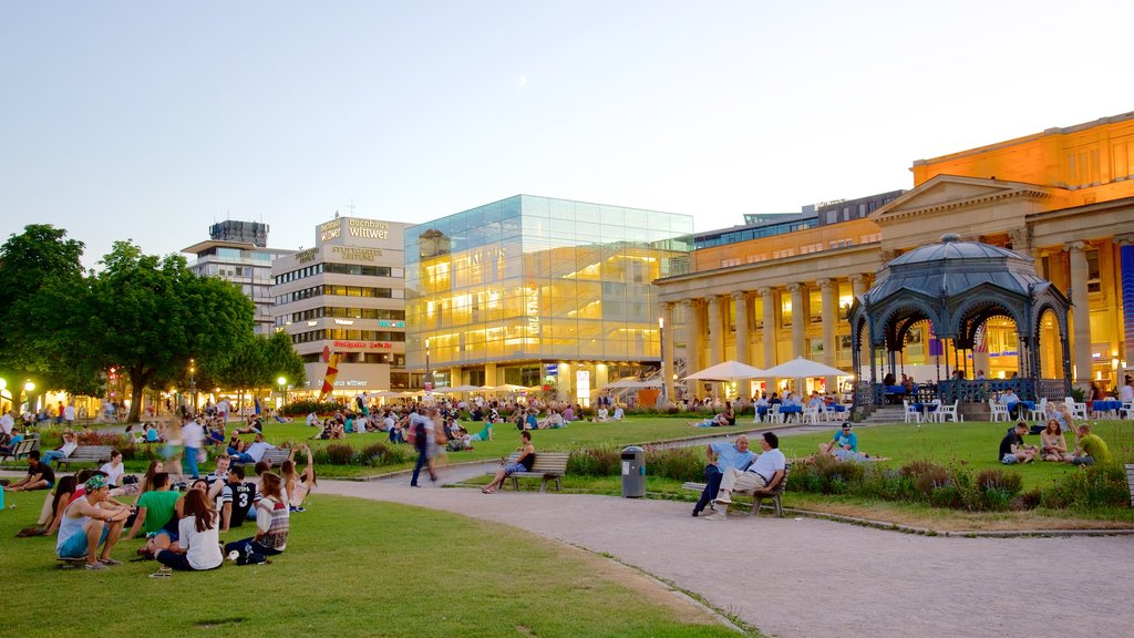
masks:
<path fill-rule="evenodd" d="M 319 487 L 607 552 L 770 636 L 1066 638 L 1134 627 L 1134 537 L 923 537 L 767 513 L 716 522 L 689 517 L 687 503 L 407 484 Z"/>

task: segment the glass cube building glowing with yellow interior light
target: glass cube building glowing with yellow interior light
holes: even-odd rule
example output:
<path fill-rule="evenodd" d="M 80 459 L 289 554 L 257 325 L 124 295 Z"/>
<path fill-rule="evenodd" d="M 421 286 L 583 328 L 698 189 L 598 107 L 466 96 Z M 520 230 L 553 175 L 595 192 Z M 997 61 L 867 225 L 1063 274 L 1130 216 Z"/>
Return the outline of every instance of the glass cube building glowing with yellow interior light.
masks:
<path fill-rule="evenodd" d="M 516 195 L 405 242 L 406 367 L 422 385 L 541 385 L 585 403 L 658 367 L 653 280 L 689 271 L 693 218 Z"/>

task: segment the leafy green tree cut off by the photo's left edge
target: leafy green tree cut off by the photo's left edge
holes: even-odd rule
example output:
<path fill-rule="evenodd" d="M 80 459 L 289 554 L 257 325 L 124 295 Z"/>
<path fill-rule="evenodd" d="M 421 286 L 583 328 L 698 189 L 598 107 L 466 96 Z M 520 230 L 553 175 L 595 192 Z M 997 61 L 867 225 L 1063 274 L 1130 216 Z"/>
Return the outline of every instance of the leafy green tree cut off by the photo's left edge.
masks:
<path fill-rule="evenodd" d="M 27 378 L 41 392 L 96 388 L 74 330 L 85 296 L 83 249 L 50 224 L 29 224 L 0 246 L 0 375 L 16 405 Z"/>

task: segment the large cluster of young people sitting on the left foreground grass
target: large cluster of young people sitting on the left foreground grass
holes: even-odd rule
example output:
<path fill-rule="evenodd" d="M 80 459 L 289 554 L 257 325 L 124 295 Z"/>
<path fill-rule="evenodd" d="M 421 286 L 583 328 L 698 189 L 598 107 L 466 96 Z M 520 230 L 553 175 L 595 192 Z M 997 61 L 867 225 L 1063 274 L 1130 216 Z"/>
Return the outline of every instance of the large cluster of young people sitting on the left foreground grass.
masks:
<path fill-rule="evenodd" d="M 256 434 L 246 448 L 230 446 L 229 454 L 217 457 L 214 471 L 201 477 L 196 453 L 204 438 L 201 430 L 196 419 L 183 419 L 166 461 L 151 462 L 141 480 L 125 473 L 121 453 L 113 451 L 101 468 L 57 482 L 52 452 L 43 459 L 32 452 L 27 475 L 5 489 L 53 492 L 44 498 L 36 524 L 18 536 L 54 534 L 58 557 L 82 561 L 88 570 L 121 564 L 112 552 L 124 534 L 126 540 L 144 536 L 138 555 L 177 570 L 215 569 L 225 554 L 237 564 L 268 562 L 268 556 L 286 548 L 290 514 L 304 511 L 304 500 L 316 485 L 311 448 L 293 447 L 277 473 L 261 460 L 270 446 Z M 295 462 L 301 451 L 306 454 L 302 470 Z M 175 484 L 167 462 L 178 479 L 188 475 L 192 481 Z M 185 475 L 178 462 L 184 462 Z M 245 480 L 240 463 L 255 463 L 256 480 Z M 222 546 L 220 535 L 245 521 L 255 522 L 254 534 Z"/>

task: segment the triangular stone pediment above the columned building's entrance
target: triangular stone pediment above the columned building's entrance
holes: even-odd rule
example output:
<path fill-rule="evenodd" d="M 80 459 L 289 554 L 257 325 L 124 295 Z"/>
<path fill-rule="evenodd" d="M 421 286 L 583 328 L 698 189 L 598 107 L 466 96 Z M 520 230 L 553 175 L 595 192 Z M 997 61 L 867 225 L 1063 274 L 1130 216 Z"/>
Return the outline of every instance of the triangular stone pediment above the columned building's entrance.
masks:
<path fill-rule="evenodd" d="M 1007 198 L 1049 198 L 1051 191 L 1035 184 L 937 175 L 921 186 L 871 213 L 870 219 L 879 225 L 896 220 L 908 220 L 937 211 L 972 207 L 987 201 Z"/>

